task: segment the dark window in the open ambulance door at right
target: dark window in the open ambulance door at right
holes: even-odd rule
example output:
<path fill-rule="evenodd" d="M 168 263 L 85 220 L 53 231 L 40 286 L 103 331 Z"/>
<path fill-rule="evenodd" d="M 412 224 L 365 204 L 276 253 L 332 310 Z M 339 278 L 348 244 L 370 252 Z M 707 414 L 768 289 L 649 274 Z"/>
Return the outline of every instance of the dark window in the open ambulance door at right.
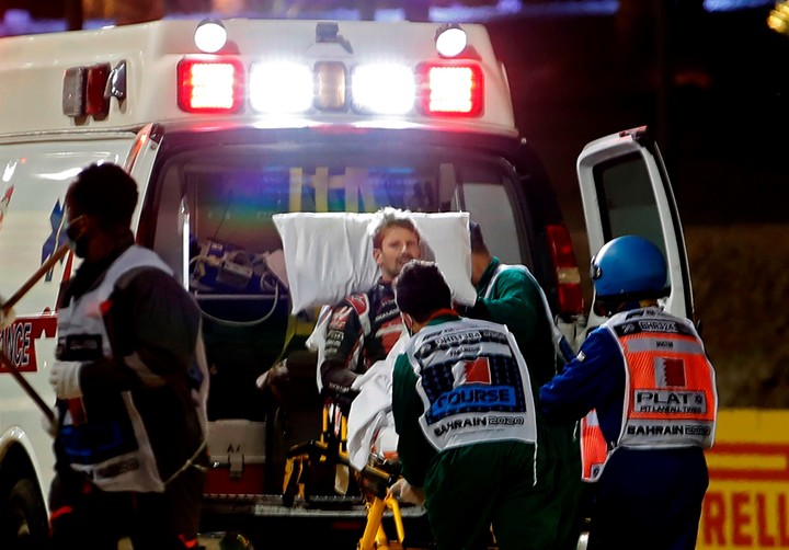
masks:
<path fill-rule="evenodd" d="M 595 168 L 594 175 L 605 240 L 639 234 L 664 249 L 652 181 L 641 156 L 633 153 L 603 163 Z"/>

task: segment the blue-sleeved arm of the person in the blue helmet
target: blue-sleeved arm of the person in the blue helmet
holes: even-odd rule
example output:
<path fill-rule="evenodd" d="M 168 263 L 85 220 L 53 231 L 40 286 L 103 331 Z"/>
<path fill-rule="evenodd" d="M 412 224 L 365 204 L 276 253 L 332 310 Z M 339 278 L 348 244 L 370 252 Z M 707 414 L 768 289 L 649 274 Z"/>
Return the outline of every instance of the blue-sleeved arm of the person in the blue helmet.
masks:
<path fill-rule="evenodd" d="M 574 421 L 592 409 L 621 400 L 625 368 L 618 343 L 606 329 L 590 333 L 564 370 L 540 388 L 542 413 L 550 420 Z"/>

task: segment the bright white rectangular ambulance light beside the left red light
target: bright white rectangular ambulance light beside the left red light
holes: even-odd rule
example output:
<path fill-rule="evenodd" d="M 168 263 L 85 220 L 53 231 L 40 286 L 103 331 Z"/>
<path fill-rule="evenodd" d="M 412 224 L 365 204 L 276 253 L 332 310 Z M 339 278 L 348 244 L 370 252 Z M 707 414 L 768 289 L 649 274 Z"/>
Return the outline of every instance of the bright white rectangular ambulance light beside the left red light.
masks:
<path fill-rule="evenodd" d="M 265 113 L 302 113 L 315 98 L 312 71 L 295 62 L 253 64 L 250 68 L 250 104 Z"/>

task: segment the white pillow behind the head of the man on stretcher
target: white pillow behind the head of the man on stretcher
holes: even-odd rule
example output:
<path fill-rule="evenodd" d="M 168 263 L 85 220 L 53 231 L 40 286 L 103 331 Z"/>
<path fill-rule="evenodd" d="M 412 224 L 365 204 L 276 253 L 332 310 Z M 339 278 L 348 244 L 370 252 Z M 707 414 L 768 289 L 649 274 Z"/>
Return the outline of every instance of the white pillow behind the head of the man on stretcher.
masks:
<path fill-rule="evenodd" d="M 473 305 L 468 213 L 401 211 L 410 218 L 453 291 L 453 299 Z M 336 303 L 369 289 L 380 272 L 373 257 L 373 232 L 381 213 L 290 213 L 273 216 L 285 253 L 291 312 Z"/>

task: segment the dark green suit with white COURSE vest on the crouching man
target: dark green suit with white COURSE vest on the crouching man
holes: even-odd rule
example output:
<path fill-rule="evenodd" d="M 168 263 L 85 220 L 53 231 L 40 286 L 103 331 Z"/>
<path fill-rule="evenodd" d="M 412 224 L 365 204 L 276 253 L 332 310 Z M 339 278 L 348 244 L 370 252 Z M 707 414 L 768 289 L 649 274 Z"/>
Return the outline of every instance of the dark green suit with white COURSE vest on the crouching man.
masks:
<path fill-rule="evenodd" d="M 537 421 L 526 363 L 506 326 L 443 310 L 395 364 L 402 474 L 424 488 L 439 549 L 546 549 L 534 515 Z"/>

